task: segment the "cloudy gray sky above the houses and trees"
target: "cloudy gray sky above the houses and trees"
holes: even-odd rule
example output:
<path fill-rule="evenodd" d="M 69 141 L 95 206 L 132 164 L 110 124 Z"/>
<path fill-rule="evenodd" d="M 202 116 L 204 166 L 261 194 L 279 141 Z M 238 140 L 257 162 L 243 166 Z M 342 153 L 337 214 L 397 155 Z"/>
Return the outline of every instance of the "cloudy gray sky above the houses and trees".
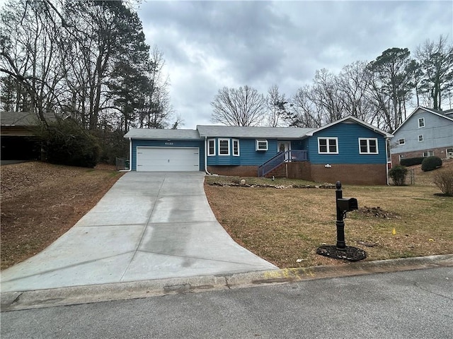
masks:
<path fill-rule="evenodd" d="M 338 73 L 385 49 L 453 37 L 453 1 L 144 1 L 147 43 L 164 53 L 185 129 L 210 124 L 219 88 L 287 96 L 318 69 Z"/>

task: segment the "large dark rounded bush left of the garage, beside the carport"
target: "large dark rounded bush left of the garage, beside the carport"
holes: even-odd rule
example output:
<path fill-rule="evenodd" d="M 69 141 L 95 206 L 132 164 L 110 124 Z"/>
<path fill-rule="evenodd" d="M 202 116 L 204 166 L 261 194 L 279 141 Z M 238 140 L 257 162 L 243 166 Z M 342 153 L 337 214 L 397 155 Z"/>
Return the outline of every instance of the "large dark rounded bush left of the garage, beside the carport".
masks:
<path fill-rule="evenodd" d="M 95 167 L 98 163 L 101 148 L 96 138 L 74 121 L 49 124 L 40 137 L 47 162 L 79 167 Z"/>

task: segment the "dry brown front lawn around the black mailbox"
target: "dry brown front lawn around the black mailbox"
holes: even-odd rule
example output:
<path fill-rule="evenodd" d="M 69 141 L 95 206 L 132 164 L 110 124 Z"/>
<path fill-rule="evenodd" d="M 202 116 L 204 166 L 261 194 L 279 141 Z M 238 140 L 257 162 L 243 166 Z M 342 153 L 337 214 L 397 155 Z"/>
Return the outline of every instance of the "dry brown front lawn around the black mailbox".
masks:
<path fill-rule="evenodd" d="M 294 180 L 244 179 L 299 186 Z M 336 244 L 335 189 L 212 186 L 214 182 L 237 183 L 240 178 L 207 177 L 205 191 L 217 220 L 242 246 L 280 268 L 342 264 L 316 254 L 322 244 Z M 343 185 L 343 196 L 357 198 L 359 205 L 345 219 L 346 244 L 365 249 L 367 261 L 452 254 L 453 198 L 438 193 L 434 185 Z"/>

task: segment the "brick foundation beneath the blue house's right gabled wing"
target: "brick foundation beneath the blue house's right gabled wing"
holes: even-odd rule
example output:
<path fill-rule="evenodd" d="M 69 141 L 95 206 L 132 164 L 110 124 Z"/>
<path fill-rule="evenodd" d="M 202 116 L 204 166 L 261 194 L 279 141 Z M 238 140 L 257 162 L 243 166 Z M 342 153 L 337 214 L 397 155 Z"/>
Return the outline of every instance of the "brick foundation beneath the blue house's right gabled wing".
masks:
<path fill-rule="evenodd" d="M 386 165 L 370 164 L 333 164 L 326 168 L 324 165 L 311 165 L 311 180 L 335 184 L 352 185 L 386 185 Z"/>

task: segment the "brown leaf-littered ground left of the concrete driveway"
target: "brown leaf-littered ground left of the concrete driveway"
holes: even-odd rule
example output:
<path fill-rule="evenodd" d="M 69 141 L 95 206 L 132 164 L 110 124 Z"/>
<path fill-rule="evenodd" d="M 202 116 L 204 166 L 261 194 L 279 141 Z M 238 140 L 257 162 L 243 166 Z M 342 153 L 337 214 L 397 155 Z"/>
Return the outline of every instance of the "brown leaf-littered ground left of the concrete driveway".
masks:
<path fill-rule="evenodd" d="M 49 246 L 91 210 L 122 174 L 24 162 L 2 165 L 1 269 Z"/>

